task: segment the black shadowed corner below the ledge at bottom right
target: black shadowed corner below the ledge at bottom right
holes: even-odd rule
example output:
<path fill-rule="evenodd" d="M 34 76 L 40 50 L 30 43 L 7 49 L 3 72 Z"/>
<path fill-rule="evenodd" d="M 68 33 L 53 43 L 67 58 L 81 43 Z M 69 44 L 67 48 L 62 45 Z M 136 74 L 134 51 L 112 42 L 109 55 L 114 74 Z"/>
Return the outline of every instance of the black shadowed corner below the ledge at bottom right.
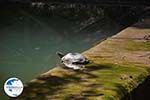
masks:
<path fill-rule="evenodd" d="M 150 100 L 150 76 L 121 100 Z"/>

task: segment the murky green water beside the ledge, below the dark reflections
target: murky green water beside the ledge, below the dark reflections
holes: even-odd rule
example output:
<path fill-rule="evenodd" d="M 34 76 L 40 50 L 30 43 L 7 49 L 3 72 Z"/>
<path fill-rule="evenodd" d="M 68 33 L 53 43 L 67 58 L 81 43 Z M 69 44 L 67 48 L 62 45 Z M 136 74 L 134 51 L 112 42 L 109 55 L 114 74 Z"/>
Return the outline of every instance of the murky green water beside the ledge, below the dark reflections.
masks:
<path fill-rule="evenodd" d="M 119 30 L 109 18 L 96 29 L 79 33 L 76 32 L 78 24 L 59 16 L 11 9 L 1 10 L 0 16 L 2 100 L 7 100 L 3 84 L 9 77 L 18 77 L 25 83 L 60 64 L 56 51 L 82 52 Z"/>

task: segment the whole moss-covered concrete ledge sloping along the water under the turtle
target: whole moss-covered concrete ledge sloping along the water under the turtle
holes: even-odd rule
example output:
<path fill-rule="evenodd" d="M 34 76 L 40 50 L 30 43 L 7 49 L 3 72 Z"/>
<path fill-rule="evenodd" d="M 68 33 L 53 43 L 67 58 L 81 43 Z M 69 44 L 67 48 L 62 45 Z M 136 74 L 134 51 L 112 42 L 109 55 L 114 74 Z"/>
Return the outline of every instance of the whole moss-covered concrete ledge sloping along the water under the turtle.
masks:
<path fill-rule="evenodd" d="M 149 76 L 149 19 L 83 52 L 91 61 L 74 71 L 60 65 L 25 85 L 18 100 L 120 100 Z M 13 99 L 13 98 L 11 98 Z"/>

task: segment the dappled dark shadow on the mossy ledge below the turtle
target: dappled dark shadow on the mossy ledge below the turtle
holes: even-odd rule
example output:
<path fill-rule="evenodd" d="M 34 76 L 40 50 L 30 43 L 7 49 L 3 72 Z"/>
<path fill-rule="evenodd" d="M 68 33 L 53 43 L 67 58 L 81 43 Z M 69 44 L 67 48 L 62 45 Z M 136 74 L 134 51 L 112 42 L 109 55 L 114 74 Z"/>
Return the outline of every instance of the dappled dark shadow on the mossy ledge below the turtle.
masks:
<path fill-rule="evenodd" d="M 27 99 L 27 100 L 42 100 L 43 98 L 46 98 L 49 95 L 49 99 L 56 99 L 56 96 L 60 90 L 64 89 L 64 86 L 67 84 L 79 84 L 82 82 L 87 82 L 90 78 L 97 78 L 98 76 L 95 74 L 92 74 L 91 71 L 97 71 L 101 69 L 108 69 L 110 70 L 111 67 L 107 65 L 101 65 L 101 64 L 90 64 L 88 67 L 85 68 L 85 70 L 71 70 L 71 69 L 64 69 L 60 68 L 57 73 L 58 75 L 51 75 L 51 73 L 46 75 L 41 75 L 37 77 L 37 79 L 34 81 L 31 81 L 26 84 L 24 88 L 24 92 L 20 97 L 17 97 L 17 99 Z M 64 72 L 65 73 L 64 73 Z M 81 77 L 82 76 L 82 77 Z M 82 91 L 81 94 L 70 94 L 67 95 L 67 99 L 78 99 L 78 100 L 84 100 L 88 96 L 101 96 L 102 93 L 96 93 L 93 91 L 93 88 L 97 88 L 100 86 L 100 84 L 89 84 L 90 86 L 85 87 L 91 87 L 87 91 Z M 94 90 L 95 90 L 94 89 Z M 37 99 L 38 98 L 38 99 Z M 13 99 L 13 98 L 11 98 Z"/>

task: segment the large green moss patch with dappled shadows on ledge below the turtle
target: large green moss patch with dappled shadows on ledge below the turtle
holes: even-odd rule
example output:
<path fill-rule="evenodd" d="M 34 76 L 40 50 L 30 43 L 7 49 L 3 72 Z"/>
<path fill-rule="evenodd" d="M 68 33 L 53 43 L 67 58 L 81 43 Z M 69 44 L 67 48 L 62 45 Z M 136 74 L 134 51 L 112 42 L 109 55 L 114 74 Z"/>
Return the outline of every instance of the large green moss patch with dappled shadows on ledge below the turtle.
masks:
<path fill-rule="evenodd" d="M 60 68 L 54 75 L 28 83 L 19 99 L 119 100 L 147 76 L 146 68 L 131 64 L 92 63 L 80 71 Z"/>

